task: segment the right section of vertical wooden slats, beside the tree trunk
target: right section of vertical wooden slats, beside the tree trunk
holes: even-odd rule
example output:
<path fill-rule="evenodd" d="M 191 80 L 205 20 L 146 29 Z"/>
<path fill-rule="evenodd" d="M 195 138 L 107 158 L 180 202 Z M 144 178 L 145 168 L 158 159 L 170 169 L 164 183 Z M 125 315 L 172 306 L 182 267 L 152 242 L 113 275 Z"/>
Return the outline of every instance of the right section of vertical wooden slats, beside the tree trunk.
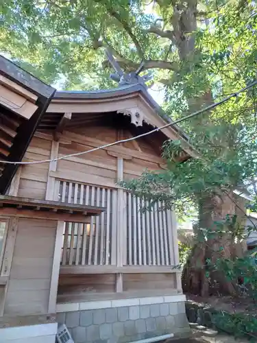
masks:
<path fill-rule="evenodd" d="M 173 265 L 171 213 L 162 210 L 163 205 L 158 202 L 151 211 L 143 211 L 149 202 L 127 193 L 125 265 Z"/>

